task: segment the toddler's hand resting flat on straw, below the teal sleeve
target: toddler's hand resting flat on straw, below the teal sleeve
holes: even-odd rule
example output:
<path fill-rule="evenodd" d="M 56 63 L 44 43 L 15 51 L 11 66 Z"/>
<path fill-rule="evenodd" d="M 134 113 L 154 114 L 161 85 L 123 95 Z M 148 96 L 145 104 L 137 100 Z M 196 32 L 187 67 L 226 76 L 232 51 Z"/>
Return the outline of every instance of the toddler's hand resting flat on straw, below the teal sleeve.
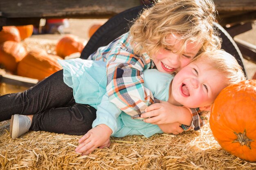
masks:
<path fill-rule="evenodd" d="M 88 155 L 98 147 L 108 147 L 110 145 L 109 138 L 111 134 L 112 130 L 108 126 L 100 124 L 89 130 L 83 137 L 81 137 L 81 139 L 79 139 L 79 146 L 75 151 L 83 153 L 83 155 Z"/>

